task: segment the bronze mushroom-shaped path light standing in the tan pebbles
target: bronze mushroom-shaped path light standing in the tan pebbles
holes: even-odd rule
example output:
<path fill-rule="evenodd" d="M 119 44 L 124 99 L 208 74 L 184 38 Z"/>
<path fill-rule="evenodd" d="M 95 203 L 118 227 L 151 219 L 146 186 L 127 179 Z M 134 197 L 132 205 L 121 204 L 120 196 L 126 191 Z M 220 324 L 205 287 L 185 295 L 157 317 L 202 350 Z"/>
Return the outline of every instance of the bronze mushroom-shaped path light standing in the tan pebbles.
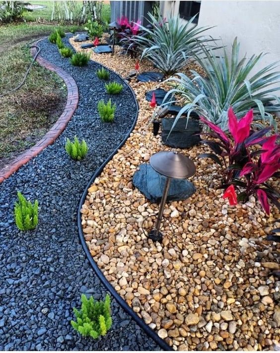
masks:
<path fill-rule="evenodd" d="M 190 158 L 175 151 L 160 151 L 153 154 L 150 157 L 150 165 L 156 172 L 166 176 L 155 228 L 148 235 L 153 241 L 161 241 L 162 233 L 159 229 L 171 179 L 185 179 L 194 175 L 196 166 Z"/>

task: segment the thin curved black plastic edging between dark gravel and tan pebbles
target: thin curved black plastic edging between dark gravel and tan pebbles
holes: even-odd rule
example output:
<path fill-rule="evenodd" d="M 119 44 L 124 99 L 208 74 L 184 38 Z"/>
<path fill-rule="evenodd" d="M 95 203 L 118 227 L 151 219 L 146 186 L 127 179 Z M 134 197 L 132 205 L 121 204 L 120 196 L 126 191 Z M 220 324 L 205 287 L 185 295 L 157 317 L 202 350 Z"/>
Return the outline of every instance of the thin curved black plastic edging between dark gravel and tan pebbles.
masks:
<path fill-rule="evenodd" d="M 71 43 L 69 42 L 68 38 L 68 43 L 70 44 L 70 46 L 73 48 L 73 50 L 76 52 L 75 48 L 71 45 Z M 115 290 L 115 288 L 112 286 L 112 284 L 110 282 L 107 281 L 106 277 L 103 275 L 102 271 L 99 269 L 99 267 L 97 266 L 96 262 L 93 260 L 93 257 L 91 256 L 89 249 L 86 245 L 86 242 L 84 240 L 84 235 L 83 235 L 83 231 L 82 231 L 82 226 L 81 226 L 81 213 L 80 210 L 82 209 L 82 206 L 84 204 L 84 201 L 86 199 L 87 196 L 87 189 L 90 187 L 90 185 L 93 183 L 93 181 L 101 174 L 102 170 L 104 169 L 104 167 L 106 166 L 106 164 L 113 158 L 113 156 L 118 152 L 118 149 L 120 149 L 125 142 L 128 140 L 128 138 L 130 137 L 130 134 L 133 132 L 133 129 L 135 128 L 135 125 L 137 123 L 137 119 L 138 119 L 138 113 L 139 113 L 139 104 L 136 98 L 136 95 L 134 93 L 134 90 L 131 88 L 131 86 L 123 79 L 123 77 L 118 74 L 117 72 L 107 68 L 105 65 L 102 65 L 94 60 L 92 60 L 95 64 L 98 64 L 100 66 L 103 66 L 106 70 L 111 71 L 114 74 L 117 74 L 121 80 L 129 87 L 129 89 L 131 90 L 135 102 L 136 102 L 136 106 L 137 106 L 137 110 L 136 110 L 136 114 L 135 114 L 135 119 L 133 122 L 133 125 L 131 127 L 131 129 L 129 130 L 129 132 L 126 134 L 125 138 L 123 139 L 123 141 L 121 141 L 121 143 L 118 145 L 117 148 L 115 148 L 115 150 L 109 155 L 109 157 L 102 163 L 102 165 L 97 169 L 97 171 L 92 175 L 92 177 L 90 178 L 89 182 L 86 185 L 85 190 L 82 193 L 79 205 L 78 205 L 78 210 L 77 210 L 77 222 L 78 222 L 78 234 L 79 234 L 79 240 L 81 243 L 81 246 L 86 254 L 87 260 L 89 261 L 91 267 L 93 268 L 94 272 L 96 273 L 96 275 L 98 276 L 99 280 L 102 282 L 102 284 L 106 287 L 106 289 L 110 292 L 110 294 L 115 298 L 115 300 L 121 305 L 121 307 L 132 317 L 132 319 L 134 321 L 136 321 L 136 323 L 140 326 L 141 329 L 143 329 L 143 331 L 147 334 L 147 336 L 149 336 L 151 339 L 153 339 L 158 346 L 164 350 L 164 351 L 174 351 L 170 346 L 168 346 L 168 344 L 162 340 L 156 333 L 154 330 L 152 330 L 148 325 L 146 325 L 144 323 L 144 321 L 132 310 L 132 308 L 127 304 L 127 302 L 117 293 L 117 291 Z"/>

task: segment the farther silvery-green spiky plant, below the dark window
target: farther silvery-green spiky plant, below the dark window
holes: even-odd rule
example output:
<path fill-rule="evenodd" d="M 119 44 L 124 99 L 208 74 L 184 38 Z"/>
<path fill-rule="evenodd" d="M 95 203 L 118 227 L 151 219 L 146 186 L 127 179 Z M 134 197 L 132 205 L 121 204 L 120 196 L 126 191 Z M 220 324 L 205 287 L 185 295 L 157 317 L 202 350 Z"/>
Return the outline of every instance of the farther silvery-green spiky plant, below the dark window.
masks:
<path fill-rule="evenodd" d="M 201 52 L 200 43 L 213 41 L 213 38 L 202 35 L 211 27 L 198 27 L 193 23 L 196 16 L 183 24 L 179 17 L 161 17 L 156 19 L 148 13 L 149 25 L 138 24 L 142 34 L 132 38 L 140 46 L 141 59 L 147 58 L 154 66 L 166 75 L 178 72 L 186 65 L 194 53 Z"/>

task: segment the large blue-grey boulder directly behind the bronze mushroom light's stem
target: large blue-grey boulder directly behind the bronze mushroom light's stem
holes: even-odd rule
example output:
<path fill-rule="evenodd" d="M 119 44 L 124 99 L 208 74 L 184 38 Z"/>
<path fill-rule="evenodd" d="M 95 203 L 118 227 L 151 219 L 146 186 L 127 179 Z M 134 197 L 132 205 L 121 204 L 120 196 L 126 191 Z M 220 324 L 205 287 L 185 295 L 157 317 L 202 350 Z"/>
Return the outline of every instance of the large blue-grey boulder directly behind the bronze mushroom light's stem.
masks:
<path fill-rule="evenodd" d="M 133 176 L 133 185 L 151 202 L 159 203 L 164 190 L 166 177 L 158 174 L 150 164 L 140 164 Z M 185 179 L 171 179 L 167 201 L 186 200 L 196 192 L 193 183 Z"/>

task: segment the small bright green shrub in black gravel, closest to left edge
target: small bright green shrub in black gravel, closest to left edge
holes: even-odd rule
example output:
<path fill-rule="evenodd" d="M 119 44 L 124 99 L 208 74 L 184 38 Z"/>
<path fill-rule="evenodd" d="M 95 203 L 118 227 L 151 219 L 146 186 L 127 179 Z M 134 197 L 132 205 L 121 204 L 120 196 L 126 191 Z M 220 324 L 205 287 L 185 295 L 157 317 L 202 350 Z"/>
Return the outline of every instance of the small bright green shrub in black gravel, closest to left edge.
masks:
<path fill-rule="evenodd" d="M 15 224 L 19 230 L 31 230 L 38 224 L 38 200 L 34 205 L 18 191 L 18 202 L 14 206 Z"/>

